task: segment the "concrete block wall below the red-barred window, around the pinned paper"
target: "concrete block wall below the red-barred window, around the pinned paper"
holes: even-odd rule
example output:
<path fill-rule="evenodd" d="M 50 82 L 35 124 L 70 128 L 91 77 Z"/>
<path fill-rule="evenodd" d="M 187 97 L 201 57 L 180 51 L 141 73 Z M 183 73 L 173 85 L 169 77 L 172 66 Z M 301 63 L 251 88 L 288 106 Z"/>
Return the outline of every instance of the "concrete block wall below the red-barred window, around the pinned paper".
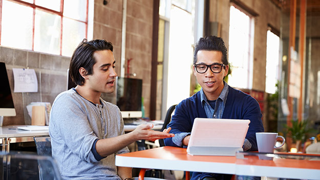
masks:
<path fill-rule="evenodd" d="M 55 97 L 67 89 L 67 69 L 70 58 L 33 51 L 0 47 L 0 61 L 6 63 L 15 117 L 4 117 L 3 125 L 31 124 L 26 106 L 31 102 L 53 103 Z M 38 80 L 37 93 L 13 93 L 12 68 L 34 69 Z"/>

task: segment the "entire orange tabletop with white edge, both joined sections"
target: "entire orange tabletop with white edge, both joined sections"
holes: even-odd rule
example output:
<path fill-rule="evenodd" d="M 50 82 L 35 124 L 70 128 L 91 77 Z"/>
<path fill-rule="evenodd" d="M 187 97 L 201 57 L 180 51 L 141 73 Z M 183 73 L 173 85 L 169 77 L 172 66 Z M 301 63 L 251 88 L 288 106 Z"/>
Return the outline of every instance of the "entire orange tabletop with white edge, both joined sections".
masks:
<path fill-rule="evenodd" d="M 302 163 L 303 162 L 303 163 Z M 165 169 L 250 176 L 278 176 L 320 179 L 320 161 L 277 159 L 259 160 L 257 157 L 239 160 L 236 156 L 193 156 L 185 148 L 160 147 L 116 155 L 116 166 L 144 169 Z M 267 173 L 267 174 L 266 174 Z"/>

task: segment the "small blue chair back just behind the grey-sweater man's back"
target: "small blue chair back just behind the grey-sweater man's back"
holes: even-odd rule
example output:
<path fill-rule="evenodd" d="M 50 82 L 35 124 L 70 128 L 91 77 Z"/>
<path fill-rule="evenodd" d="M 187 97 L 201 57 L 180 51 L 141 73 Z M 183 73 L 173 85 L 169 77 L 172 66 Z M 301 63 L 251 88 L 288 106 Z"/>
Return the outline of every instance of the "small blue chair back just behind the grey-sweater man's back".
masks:
<path fill-rule="evenodd" d="M 52 156 L 51 153 L 51 138 L 49 136 L 38 136 L 33 137 L 35 142 L 38 155 L 49 155 Z"/>

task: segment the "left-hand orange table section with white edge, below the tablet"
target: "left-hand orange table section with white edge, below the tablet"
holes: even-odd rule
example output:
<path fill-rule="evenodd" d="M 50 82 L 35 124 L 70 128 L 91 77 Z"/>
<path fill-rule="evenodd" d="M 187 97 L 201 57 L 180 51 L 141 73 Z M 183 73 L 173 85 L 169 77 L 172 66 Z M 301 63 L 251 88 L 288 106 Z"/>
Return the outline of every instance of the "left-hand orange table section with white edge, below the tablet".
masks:
<path fill-rule="evenodd" d="M 194 156 L 186 148 L 165 146 L 117 155 L 116 166 L 234 174 L 236 157 Z"/>

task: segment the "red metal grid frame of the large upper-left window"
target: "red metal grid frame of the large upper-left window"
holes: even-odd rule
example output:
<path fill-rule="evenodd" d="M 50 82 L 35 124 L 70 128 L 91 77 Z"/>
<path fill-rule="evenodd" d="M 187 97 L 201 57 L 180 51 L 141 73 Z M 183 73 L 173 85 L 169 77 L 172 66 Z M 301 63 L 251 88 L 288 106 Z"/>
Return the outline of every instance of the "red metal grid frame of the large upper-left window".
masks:
<path fill-rule="evenodd" d="M 67 17 L 67 16 L 63 16 L 63 5 L 64 5 L 64 1 L 63 0 L 60 0 L 60 12 L 59 11 L 55 11 L 55 10 L 52 10 L 52 9 L 48 9 L 48 8 L 45 8 L 45 7 L 42 7 L 42 6 L 38 6 L 35 4 L 35 0 L 33 0 L 33 3 L 28 3 L 28 2 L 24 2 L 24 1 L 21 1 L 21 0 L 7 0 L 7 1 L 10 1 L 10 2 L 13 2 L 13 3 L 17 3 L 19 5 L 23 5 L 23 6 L 27 6 L 27 7 L 31 7 L 33 9 L 33 17 L 32 17 L 32 48 L 31 50 L 34 51 L 34 30 L 35 30 L 35 10 L 40 10 L 40 11 L 44 11 L 44 12 L 47 12 L 47 13 L 51 13 L 51 14 L 54 14 L 54 15 L 58 15 L 60 16 L 61 20 L 60 20 L 60 33 L 59 33 L 59 39 L 60 39 L 60 52 L 59 52 L 59 55 L 62 56 L 62 28 L 63 28 L 63 17 L 65 18 L 69 18 L 69 19 L 72 19 L 72 20 L 75 20 L 75 21 L 78 21 L 78 22 L 83 22 L 86 26 L 86 29 L 85 29 L 85 37 L 88 38 L 88 16 L 89 16 L 89 0 L 86 0 L 87 2 L 87 7 L 86 7 L 86 20 L 85 21 L 82 21 L 82 20 L 78 20 L 78 19 L 74 19 L 74 18 L 71 18 L 71 17 Z M 2 37 L 2 8 L 3 8 L 3 0 L 0 0 L 0 46 L 2 45 L 1 44 L 1 37 Z"/>

